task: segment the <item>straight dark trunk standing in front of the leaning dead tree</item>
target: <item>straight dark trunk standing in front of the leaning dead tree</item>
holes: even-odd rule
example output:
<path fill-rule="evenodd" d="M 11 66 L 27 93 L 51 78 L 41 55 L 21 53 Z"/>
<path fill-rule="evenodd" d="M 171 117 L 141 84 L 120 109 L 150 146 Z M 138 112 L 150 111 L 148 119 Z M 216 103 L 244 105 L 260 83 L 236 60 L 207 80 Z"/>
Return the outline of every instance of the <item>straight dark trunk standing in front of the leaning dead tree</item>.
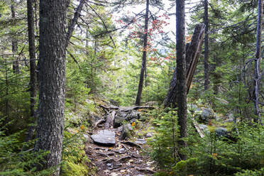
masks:
<path fill-rule="evenodd" d="M 177 51 L 177 116 L 180 126 L 180 148 L 187 148 L 187 90 L 185 57 L 185 0 L 176 0 L 176 51 Z M 187 160 L 185 153 L 179 153 L 181 160 Z"/>

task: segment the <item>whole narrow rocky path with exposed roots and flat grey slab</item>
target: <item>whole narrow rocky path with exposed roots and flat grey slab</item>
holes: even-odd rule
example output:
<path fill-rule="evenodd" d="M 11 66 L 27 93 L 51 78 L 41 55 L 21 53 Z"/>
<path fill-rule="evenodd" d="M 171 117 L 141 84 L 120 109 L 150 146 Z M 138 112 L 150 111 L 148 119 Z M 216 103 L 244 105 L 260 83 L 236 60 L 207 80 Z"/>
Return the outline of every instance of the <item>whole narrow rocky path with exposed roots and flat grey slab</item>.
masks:
<path fill-rule="evenodd" d="M 97 167 L 97 175 L 143 176 L 155 173 L 154 162 L 147 152 L 145 138 L 129 141 L 128 131 L 133 130 L 130 123 L 139 119 L 137 109 L 150 106 L 101 106 L 106 116 L 94 122 L 94 130 L 86 143 L 86 154 Z M 123 123 L 126 120 L 128 123 Z M 115 127 L 115 128 L 114 128 Z M 128 141 L 124 140 L 128 139 Z"/>

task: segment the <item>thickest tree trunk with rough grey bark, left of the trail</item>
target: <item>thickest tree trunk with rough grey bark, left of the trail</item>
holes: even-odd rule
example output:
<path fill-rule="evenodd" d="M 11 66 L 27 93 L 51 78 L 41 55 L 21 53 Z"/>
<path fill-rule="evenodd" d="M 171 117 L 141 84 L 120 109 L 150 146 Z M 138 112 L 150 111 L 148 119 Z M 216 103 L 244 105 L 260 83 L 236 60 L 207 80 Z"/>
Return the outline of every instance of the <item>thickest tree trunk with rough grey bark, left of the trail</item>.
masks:
<path fill-rule="evenodd" d="M 56 166 L 60 174 L 65 109 L 67 0 L 40 1 L 40 74 L 35 150 L 49 150 L 38 170 Z"/>

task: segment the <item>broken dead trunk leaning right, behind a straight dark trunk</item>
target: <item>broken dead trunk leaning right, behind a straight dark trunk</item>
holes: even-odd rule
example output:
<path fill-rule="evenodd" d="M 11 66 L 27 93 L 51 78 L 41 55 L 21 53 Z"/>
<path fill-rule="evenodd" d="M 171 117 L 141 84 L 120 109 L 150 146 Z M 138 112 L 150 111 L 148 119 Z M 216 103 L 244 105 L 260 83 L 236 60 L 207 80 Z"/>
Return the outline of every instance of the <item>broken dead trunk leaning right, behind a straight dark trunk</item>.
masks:
<path fill-rule="evenodd" d="M 197 67 L 199 53 L 202 48 L 202 43 L 204 40 L 204 23 L 197 25 L 194 29 L 194 34 L 192 35 L 192 41 L 189 45 L 186 45 L 186 84 L 187 93 L 189 92 L 189 87 L 192 84 L 192 78 L 194 77 L 194 71 Z M 164 100 L 164 106 L 176 107 L 176 95 L 177 95 L 177 71 L 174 70 L 172 80 L 170 82 L 170 88 L 168 89 L 167 96 Z"/>

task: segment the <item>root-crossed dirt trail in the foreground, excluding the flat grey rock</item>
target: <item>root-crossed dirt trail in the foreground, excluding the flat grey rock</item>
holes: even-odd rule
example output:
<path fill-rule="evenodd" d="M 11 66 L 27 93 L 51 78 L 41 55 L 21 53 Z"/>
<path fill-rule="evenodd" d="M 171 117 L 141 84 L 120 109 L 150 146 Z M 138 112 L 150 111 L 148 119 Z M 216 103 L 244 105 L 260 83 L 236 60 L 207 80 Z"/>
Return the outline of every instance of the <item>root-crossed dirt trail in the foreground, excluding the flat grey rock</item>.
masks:
<path fill-rule="evenodd" d="M 116 145 L 113 147 L 94 144 L 92 139 L 86 144 L 87 157 L 97 166 L 97 175 L 153 175 L 153 162 L 144 149 L 133 143 L 119 141 L 118 129 L 110 130 L 117 134 Z"/>

